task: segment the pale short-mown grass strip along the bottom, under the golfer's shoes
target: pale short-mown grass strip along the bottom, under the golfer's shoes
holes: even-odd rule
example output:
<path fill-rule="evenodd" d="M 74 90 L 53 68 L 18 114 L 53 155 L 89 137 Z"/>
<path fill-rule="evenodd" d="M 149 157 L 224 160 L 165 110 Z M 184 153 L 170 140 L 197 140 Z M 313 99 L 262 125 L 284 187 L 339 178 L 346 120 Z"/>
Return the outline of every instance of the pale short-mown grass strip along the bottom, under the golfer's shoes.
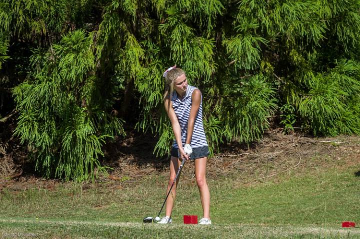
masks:
<path fill-rule="evenodd" d="M 360 237 L 356 229 L 332 229 L 324 227 L 262 226 L 262 225 L 199 225 L 172 224 L 168 226 L 142 223 L 106 223 L 93 221 L 59 221 L 33 219 L 1 219 L 6 230 L 2 237 L 11 233 L 31 238 L 354 238 Z M 32 232 L 32 233 L 29 233 Z M 26 235 L 27 234 L 27 235 Z M 29 236 L 31 235 L 31 236 Z M 13 237 L 13 236 L 12 236 Z"/>

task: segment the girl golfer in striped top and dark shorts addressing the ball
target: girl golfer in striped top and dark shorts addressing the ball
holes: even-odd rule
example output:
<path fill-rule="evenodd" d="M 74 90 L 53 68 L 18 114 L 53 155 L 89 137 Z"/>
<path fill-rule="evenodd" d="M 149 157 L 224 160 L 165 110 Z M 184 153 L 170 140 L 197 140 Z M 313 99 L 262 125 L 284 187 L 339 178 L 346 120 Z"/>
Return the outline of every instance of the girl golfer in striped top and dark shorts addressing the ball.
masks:
<path fill-rule="evenodd" d="M 200 192 L 203 218 L 199 224 L 209 225 L 210 193 L 206 183 L 206 160 L 209 154 L 205 132 L 202 125 L 202 96 L 199 89 L 187 84 L 186 75 L 176 65 L 164 73 L 164 106 L 170 118 L 175 140 L 171 149 L 170 178 L 166 194 L 175 178 L 181 159 L 195 161 L 195 176 Z M 171 223 L 171 212 L 176 195 L 177 182 L 172 187 L 171 197 L 166 200 L 166 214 L 160 224 Z"/>

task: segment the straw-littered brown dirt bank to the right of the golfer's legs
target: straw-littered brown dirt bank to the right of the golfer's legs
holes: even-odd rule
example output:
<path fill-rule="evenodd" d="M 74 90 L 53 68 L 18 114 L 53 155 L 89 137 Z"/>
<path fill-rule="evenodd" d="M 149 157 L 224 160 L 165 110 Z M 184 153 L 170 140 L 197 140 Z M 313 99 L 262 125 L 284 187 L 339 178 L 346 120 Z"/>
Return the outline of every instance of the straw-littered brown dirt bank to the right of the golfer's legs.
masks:
<path fill-rule="evenodd" d="M 339 136 L 311 138 L 282 135 L 270 131 L 250 149 L 238 149 L 215 155 L 208 174 L 236 176 L 245 182 L 296 169 L 348 167 L 360 163 L 360 138 Z"/>

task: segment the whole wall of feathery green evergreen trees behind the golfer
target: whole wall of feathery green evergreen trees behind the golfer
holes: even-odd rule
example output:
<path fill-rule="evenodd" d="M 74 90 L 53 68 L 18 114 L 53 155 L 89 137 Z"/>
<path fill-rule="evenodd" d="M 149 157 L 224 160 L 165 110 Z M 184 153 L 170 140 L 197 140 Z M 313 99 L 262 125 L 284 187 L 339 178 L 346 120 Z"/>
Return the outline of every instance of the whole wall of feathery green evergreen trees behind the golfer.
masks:
<path fill-rule="evenodd" d="M 93 176 L 105 137 L 122 133 L 117 117 L 157 135 L 154 153 L 169 153 L 162 72 L 173 64 L 202 92 L 212 152 L 221 142 L 259 140 L 270 125 L 359 134 L 359 0 L 3 0 L 0 7 L 3 64 L 21 56 L 15 42 L 29 52 L 19 63 L 26 79 L 12 81 L 16 134 L 47 176 Z M 79 166 L 66 171 L 71 165 Z"/>

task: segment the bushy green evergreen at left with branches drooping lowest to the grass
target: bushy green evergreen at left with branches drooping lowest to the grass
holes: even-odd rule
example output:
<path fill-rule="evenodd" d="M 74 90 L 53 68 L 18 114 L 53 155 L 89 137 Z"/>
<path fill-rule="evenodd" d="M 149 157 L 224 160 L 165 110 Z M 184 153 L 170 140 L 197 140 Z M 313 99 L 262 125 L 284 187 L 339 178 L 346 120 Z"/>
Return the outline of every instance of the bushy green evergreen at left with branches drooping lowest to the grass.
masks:
<path fill-rule="evenodd" d="M 27 142 L 35 168 L 46 177 L 87 180 L 105 173 L 98 157 L 106 137 L 123 134 L 122 123 L 103 109 L 95 75 L 93 35 L 75 30 L 48 52 L 35 51 L 31 79 L 14 88 L 20 111 L 15 134 Z"/>

